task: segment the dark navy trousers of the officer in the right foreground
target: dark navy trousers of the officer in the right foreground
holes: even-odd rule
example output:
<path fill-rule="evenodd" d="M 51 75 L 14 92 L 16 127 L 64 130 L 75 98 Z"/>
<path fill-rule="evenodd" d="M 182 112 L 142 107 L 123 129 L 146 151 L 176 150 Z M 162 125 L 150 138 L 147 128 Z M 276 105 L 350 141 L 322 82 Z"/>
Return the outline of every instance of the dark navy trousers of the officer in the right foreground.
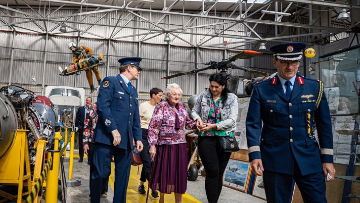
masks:
<path fill-rule="evenodd" d="M 278 164 L 278 163 L 276 163 Z M 295 163 L 294 175 L 264 170 L 264 187 L 268 203 L 291 203 L 293 182 L 301 192 L 304 203 L 327 203 L 325 180 L 322 171 L 301 175 Z"/>

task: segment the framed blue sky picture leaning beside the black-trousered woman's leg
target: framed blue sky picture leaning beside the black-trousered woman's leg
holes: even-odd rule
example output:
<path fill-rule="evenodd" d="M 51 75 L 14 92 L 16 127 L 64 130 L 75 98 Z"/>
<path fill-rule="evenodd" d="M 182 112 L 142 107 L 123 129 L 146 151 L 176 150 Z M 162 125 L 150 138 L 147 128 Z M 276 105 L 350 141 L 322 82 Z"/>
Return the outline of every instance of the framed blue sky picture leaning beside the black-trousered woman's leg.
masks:
<path fill-rule="evenodd" d="M 247 190 L 251 172 L 251 163 L 230 158 L 225 168 L 223 185 L 241 192 Z"/>

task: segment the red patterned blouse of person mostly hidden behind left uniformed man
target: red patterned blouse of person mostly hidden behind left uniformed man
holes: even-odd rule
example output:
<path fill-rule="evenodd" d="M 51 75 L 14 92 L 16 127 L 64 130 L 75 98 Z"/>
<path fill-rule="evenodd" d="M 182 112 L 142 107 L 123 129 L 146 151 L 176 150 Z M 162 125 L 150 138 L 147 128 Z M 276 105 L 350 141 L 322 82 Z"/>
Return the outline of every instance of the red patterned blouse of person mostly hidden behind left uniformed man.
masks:
<path fill-rule="evenodd" d="M 89 145 L 89 142 L 92 143 L 97 118 L 96 103 L 91 103 L 85 117 L 83 145 Z"/>

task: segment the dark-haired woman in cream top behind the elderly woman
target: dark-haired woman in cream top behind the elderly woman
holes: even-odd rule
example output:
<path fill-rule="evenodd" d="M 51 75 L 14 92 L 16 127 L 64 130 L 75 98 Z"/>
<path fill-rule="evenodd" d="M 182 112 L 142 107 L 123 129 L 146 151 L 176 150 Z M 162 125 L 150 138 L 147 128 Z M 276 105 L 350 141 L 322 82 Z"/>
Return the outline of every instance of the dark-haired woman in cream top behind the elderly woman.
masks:
<path fill-rule="evenodd" d="M 144 148 L 142 152 L 140 152 L 140 157 L 142 160 L 142 170 L 140 176 L 140 186 L 138 188 L 138 192 L 140 194 L 146 194 L 144 182 L 146 179 L 149 181 L 150 178 L 150 166 L 151 166 L 151 158 L 149 151 L 149 142 L 147 141 L 147 132 L 149 127 L 149 122 L 152 117 L 152 113 L 154 112 L 155 106 L 163 99 L 163 91 L 160 88 L 152 88 L 150 90 L 150 100 L 145 101 L 139 105 L 139 114 L 140 114 L 140 125 L 142 132 L 142 144 Z M 159 194 L 156 190 L 151 192 L 151 196 L 153 198 L 159 197 Z"/>

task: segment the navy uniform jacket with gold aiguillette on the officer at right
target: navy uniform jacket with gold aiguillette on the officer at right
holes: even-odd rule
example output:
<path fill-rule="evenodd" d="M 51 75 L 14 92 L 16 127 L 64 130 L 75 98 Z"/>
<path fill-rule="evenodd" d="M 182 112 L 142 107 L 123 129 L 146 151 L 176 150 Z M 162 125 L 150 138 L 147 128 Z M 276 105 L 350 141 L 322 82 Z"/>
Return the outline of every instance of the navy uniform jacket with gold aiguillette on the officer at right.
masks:
<path fill-rule="evenodd" d="M 288 101 L 277 77 L 254 85 L 246 117 L 249 159 L 260 158 L 264 170 L 278 173 L 293 175 L 295 161 L 302 175 L 321 171 L 321 163 L 333 162 L 330 111 L 322 83 L 297 75 Z M 319 145 L 311 138 L 314 125 Z"/>

